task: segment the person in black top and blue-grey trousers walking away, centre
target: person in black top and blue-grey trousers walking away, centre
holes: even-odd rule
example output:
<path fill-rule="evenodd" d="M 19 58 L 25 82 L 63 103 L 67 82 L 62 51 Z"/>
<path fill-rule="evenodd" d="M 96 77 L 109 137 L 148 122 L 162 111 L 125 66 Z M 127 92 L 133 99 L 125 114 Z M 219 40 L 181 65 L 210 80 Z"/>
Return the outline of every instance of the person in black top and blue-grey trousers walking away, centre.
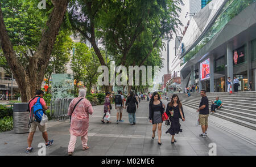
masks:
<path fill-rule="evenodd" d="M 129 122 L 130 125 L 135 125 L 136 124 L 136 105 L 137 108 L 139 108 L 138 101 L 134 97 L 133 91 L 129 92 L 129 96 L 127 97 L 126 103 L 125 103 L 125 109 L 127 108 L 127 113 L 129 117 Z"/>

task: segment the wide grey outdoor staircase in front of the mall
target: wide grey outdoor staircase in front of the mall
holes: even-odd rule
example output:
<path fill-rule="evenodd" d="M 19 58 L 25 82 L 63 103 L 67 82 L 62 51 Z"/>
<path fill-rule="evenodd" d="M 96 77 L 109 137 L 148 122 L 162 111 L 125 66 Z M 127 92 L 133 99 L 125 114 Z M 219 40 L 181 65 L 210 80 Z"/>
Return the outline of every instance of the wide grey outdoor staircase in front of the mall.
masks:
<path fill-rule="evenodd" d="M 171 97 L 173 93 L 168 93 Z M 191 93 L 191 97 L 186 94 L 177 94 L 181 103 L 185 106 L 196 110 L 199 108 L 201 101 L 200 93 Z M 242 126 L 256 130 L 256 92 L 238 92 L 229 95 L 228 92 L 207 93 L 210 106 L 219 97 L 223 105 L 221 109 L 216 109 L 217 113 L 211 113 L 216 117 L 226 119 Z M 171 98 L 170 98 L 171 99 Z"/>

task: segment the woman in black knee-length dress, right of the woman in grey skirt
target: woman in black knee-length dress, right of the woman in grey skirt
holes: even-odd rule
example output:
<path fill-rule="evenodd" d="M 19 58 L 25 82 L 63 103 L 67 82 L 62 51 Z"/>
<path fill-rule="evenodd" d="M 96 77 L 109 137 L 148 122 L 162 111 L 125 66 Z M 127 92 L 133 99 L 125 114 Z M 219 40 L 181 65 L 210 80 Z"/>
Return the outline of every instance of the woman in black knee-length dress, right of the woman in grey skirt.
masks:
<path fill-rule="evenodd" d="M 177 142 L 177 140 L 174 139 L 174 136 L 175 134 L 179 134 L 179 131 L 180 131 L 179 119 L 182 119 L 182 121 L 185 121 L 182 104 L 177 95 L 172 96 L 171 102 L 169 102 L 167 105 L 166 114 L 168 115 L 171 121 L 171 127 L 170 129 L 167 130 L 166 133 L 170 133 L 172 135 L 171 143 L 174 143 L 174 142 Z"/>

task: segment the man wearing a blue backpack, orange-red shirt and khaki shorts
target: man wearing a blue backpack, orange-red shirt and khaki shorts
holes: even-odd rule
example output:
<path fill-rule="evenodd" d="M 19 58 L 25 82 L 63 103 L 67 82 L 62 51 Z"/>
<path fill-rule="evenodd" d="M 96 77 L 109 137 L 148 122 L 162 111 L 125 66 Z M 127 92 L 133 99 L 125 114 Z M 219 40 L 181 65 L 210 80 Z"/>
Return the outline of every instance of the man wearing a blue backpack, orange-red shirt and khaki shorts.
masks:
<path fill-rule="evenodd" d="M 28 112 L 30 112 L 30 121 L 28 123 L 28 127 L 30 129 L 30 133 L 28 134 L 27 138 L 28 148 L 26 149 L 26 153 L 30 153 L 33 150 L 31 144 L 37 126 L 39 131 L 42 132 L 43 138 L 46 141 L 46 147 L 49 147 L 53 144 L 53 140 L 48 140 L 46 124 L 44 124 L 43 126 L 40 125 L 43 114 L 45 114 L 44 110 L 48 109 L 46 102 L 43 99 L 43 96 L 44 92 L 42 90 L 37 90 L 36 96 L 28 102 Z"/>

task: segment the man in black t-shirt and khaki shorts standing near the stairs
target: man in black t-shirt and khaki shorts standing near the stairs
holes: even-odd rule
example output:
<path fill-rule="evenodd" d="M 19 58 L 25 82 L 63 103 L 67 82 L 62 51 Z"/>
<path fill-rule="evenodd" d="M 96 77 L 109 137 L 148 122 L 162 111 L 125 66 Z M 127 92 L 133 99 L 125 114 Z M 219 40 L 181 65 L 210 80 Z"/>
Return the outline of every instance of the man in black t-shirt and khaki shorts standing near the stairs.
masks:
<path fill-rule="evenodd" d="M 209 117 L 209 100 L 206 96 L 205 90 L 201 90 L 200 95 L 202 96 L 202 99 L 199 104 L 199 109 L 197 109 L 196 112 L 199 112 L 199 125 L 201 125 L 203 134 L 200 134 L 199 136 L 202 138 L 206 138 Z"/>

